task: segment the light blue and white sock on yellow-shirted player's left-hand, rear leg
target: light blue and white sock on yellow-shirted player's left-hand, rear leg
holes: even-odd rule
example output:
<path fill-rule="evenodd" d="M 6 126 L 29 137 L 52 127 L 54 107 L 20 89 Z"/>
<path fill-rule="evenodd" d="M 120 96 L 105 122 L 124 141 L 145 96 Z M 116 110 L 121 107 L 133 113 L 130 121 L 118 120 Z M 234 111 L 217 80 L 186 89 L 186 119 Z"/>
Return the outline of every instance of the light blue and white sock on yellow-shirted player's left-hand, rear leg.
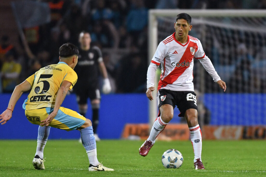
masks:
<path fill-rule="evenodd" d="M 50 126 L 39 126 L 38 128 L 37 148 L 35 156 L 38 155 L 41 159 L 43 159 L 43 150 L 50 133 L 50 128 Z"/>

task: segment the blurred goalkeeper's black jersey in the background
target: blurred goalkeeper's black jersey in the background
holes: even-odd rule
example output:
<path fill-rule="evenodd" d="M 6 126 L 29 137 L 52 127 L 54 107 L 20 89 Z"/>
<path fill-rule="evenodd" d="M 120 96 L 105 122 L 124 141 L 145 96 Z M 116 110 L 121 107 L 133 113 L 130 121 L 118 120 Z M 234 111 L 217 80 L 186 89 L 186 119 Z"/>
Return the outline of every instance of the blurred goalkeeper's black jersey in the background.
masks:
<path fill-rule="evenodd" d="M 78 63 L 74 69 L 78 75 L 77 85 L 84 86 L 84 83 L 90 85 L 98 82 L 99 62 L 103 61 L 101 50 L 94 46 L 89 50 L 79 49 L 79 51 Z"/>

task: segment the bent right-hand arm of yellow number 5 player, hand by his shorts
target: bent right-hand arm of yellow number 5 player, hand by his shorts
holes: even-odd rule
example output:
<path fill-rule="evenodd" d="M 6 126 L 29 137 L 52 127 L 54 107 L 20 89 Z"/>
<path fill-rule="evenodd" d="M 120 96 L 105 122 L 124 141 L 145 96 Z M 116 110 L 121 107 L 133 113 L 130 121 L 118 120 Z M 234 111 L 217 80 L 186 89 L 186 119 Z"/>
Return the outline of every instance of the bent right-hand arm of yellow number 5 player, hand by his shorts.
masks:
<path fill-rule="evenodd" d="M 55 107 L 53 108 L 53 112 L 48 115 L 48 117 L 44 120 L 42 120 L 40 123 L 40 126 L 49 126 L 49 124 L 52 122 L 53 118 L 57 115 L 57 112 L 63 103 L 66 94 L 71 86 L 71 82 L 64 80 L 60 86 L 60 88 L 57 91 L 56 99 L 55 99 Z"/>

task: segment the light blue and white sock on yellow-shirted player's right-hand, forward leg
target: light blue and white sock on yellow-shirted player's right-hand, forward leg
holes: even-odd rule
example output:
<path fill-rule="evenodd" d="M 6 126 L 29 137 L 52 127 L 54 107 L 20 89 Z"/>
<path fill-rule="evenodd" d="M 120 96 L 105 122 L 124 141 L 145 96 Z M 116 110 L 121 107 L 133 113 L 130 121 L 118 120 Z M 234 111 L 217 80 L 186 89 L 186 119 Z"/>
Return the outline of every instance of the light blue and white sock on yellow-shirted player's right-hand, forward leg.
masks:
<path fill-rule="evenodd" d="M 97 159 L 96 141 L 93 135 L 92 126 L 81 129 L 81 141 L 88 154 L 89 162 L 93 166 L 97 166 L 99 161 Z"/>

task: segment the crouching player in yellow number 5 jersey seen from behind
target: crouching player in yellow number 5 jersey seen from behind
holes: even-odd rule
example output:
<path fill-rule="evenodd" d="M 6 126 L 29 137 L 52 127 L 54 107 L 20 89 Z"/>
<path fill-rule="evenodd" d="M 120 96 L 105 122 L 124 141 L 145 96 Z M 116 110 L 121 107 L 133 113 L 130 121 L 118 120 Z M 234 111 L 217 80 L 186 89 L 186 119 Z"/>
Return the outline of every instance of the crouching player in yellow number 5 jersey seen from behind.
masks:
<path fill-rule="evenodd" d="M 23 109 L 27 119 L 39 125 L 35 157 L 32 161 L 35 169 L 44 169 L 43 150 L 50 128 L 66 131 L 79 130 L 81 140 L 89 157 L 89 171 L 113 171 L 99 163 L 92 122 L 76 111 L 61 107 L 68 90 L 77 82 L 73 70 L 78 62 L 78 48 L 70 43 L 59 48 L 59 63 L 41 68 L 24 82 L 17 85 L 11 95 L 7 109 L 0 115 L 0 123 L 5 124 L 11 117 L 16 102 L 23 92 L 31 89 L 24 101 Z"/>

